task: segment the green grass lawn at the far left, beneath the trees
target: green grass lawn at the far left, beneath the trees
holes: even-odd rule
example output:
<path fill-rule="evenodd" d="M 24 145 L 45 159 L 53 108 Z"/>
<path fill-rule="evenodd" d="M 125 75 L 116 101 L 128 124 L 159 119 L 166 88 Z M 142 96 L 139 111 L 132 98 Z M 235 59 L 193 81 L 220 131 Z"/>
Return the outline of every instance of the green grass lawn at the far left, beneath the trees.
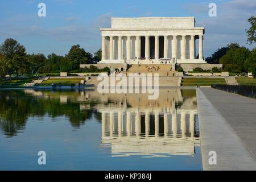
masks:
<path fill-rule="evenodd" d="M 23 86 L 27 82 L 32 82 L 34 77 L 30 78 L 12 78 L 12 80 L 0 81 L 0 88 L 16 88 Z"/>

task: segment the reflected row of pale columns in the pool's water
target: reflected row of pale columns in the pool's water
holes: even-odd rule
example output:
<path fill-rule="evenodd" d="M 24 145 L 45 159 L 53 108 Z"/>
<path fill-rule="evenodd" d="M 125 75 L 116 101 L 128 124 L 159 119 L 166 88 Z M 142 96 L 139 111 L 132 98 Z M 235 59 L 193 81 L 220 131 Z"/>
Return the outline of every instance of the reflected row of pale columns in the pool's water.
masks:
<path fill-rule="evenodd" d="M 159 111 L 155 111 L 155 135 L 159 134 Z M 185 121 L 185 112 L 181 113 L 180 117 L 180 129 L 182 137 L 185 137 L 186 132 L 186 121 Z M 174 137 L 177 135 L 177 114 L 172 113 L 171 114 L 171 130 Z M 118 134 L 122 135 L 123 129 L 123 112 L 118 111 Z M 102 112 L 102 136 L 105 136 L 106 133 L 106 123 L 109 123 L 108 129 L 110 136 L 113 135 L 113 129 L 114 129 L 114 112 L 109 112 L 109 122 L 107 122 L 106 112 Z M 164 113 L 164 135 L 168 134 L 169 125 L 168 125 L 168 113 Z M 126 131 L 127 135 L 129 136 L 131 134 L 131 113 L 130 111 L 126 112 Z M 135 131 L 136 135 L 139 135 L 141 133 L 141 115 L 139 112 L 135 113 Z M 150 112 L 146 111 L 145 113 L 145 134 L 148 135 L 150 131 Z M 190 113 L 189 114 L 189 132 L 191 133 L 191 138 L 194 137 L 195 132 L 195 114 Z"/>

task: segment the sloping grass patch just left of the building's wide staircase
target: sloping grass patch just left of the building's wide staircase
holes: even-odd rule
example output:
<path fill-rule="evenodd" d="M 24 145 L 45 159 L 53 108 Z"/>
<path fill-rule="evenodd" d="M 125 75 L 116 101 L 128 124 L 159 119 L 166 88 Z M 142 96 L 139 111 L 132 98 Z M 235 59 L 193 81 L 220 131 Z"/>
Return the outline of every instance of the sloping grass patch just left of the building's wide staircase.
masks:
<path fill-rule="evenodd" d="M 70 86 L 71 84 L 78 84 L 83 78 L 49 78 L 46 81 L 43 81 L 42 84 L 37 84 L 37 86 L 51 86 L 52 82 L 55 85 L 59 85 L 59 82 L 62 86 Z"/>

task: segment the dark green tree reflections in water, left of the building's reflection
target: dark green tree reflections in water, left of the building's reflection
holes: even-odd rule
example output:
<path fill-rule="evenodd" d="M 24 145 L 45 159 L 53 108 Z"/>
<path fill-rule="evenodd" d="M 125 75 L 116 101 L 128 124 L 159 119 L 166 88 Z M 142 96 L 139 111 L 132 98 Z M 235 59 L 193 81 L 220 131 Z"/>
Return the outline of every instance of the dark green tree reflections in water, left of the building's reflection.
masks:
<path fill-rule="evenodd" d="M 88 101 L 88 104 L 92 108 L 96 102 Z M 22 90 L 0 92 L 0 127 L 9 137 L 23 131 L 28 117 L 48 114 L 56 118 L 64 115 L 73 127 L 79 127 L 86 119 L 92 118 L 92 113 L 93 109 L 80 110 L 76 101 L 68 100 L 66 104 L 61 104 L 59 97 L 36 97 Z"/>

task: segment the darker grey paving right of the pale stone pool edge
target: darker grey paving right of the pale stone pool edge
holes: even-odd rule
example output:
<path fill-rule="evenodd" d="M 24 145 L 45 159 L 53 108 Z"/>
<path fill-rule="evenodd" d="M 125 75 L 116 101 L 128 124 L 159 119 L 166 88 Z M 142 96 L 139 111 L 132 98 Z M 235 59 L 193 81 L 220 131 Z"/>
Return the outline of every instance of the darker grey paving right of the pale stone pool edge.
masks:
<path fill-rule="evenodd" d="M 212 88 L 201 90 L 256 156 L 256 100 Z"/>

